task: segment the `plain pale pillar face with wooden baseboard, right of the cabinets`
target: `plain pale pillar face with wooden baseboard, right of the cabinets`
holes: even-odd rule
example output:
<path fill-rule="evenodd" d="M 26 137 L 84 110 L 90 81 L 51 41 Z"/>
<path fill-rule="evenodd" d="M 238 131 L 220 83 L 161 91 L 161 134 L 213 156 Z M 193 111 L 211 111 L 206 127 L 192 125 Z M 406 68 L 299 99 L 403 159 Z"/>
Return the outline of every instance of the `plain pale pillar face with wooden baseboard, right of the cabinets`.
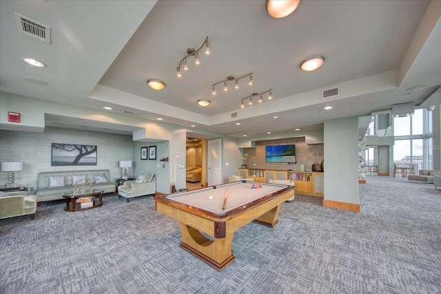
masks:
<path fill-rule="evenodd" d="M 360 204 L 358 194 L 358 118 L 327 120 L 325 200 Z"/>

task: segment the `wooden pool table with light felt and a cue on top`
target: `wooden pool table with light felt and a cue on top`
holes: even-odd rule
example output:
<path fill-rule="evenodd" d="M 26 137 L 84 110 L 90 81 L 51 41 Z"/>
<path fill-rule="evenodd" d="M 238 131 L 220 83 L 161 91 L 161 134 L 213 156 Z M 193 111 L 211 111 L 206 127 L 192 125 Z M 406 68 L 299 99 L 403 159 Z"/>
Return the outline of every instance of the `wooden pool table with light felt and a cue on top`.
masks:
<path fill-rule="evenodd" d="M 158 213 L 180 223 L 179 246 L 222 271 L 235 259 L 234 232 L 252 221 L 274 227 L 280 204 L 293 196 L 294 186 L 243 180 L 154 200 Z"/>

